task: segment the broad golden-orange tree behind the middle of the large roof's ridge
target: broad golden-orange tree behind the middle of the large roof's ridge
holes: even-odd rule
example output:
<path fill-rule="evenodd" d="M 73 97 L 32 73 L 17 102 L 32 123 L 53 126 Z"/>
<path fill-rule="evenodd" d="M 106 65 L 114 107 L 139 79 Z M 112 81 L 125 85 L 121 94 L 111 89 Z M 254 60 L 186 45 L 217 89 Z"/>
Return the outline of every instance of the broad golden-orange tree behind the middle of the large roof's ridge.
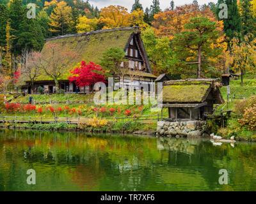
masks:
<path fill-rule="evenodd" d="M 102 8 L 100 11 L 100 22 L 103 23 L 104 29 L 115 27 L 127 27 L 129 22 L 130 13 L 127 8 L 123 6 L 108 6 Z"/>

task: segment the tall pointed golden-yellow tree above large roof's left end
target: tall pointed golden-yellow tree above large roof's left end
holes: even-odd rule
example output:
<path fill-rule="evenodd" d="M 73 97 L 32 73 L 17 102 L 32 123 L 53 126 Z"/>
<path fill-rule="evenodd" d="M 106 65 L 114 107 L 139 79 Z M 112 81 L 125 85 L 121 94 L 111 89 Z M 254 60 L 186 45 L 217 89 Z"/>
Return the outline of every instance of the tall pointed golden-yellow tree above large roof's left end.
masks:
<path fill-rule="evenodd" d="M 56 7 L 51 13 L 50 23 L 51 26 L 50 31 L 52 33 L 57 34 L 65 34 L 68 33 L 70 26 L 72 25 L 72 8 L 67 6 L 65 1 L 60 1 L 56 4 Z"/>

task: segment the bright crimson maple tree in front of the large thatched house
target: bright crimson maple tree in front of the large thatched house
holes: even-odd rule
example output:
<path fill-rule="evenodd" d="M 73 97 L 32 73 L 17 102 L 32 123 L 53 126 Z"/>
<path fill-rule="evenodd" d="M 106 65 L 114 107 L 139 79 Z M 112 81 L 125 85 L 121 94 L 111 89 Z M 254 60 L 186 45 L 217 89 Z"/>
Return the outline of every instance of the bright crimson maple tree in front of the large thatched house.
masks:
<path fill-rule="evenodd" d="M 70 83 L 75 82 L 78 87 L 91 86 L 97 82 L 106 82 L 103 69 L 94 62 L 86 64 L 86 62 L 82 61 L 80 67 L 70 72 L 72 75 L 68 77 L 68 80 Z"/>

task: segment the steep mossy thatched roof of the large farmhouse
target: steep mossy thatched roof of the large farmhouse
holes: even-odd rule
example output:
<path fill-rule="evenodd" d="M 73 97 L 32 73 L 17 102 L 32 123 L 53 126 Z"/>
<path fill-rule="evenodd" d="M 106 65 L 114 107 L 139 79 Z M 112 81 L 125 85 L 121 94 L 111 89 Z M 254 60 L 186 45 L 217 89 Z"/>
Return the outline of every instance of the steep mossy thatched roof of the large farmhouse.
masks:
<path fill-rule="evenodd" d="M 134 34 L 139 35 L 140 31 L 133 27 L 123 27 L 119 29 L 106 29 L 100 31 L 92 31 L 90 33 L 72 34 L 66 36 L 58 36 L 46 40 L 44 48 L 42 49 L 42 55 L 46 59 L 51 57 L 47 45 L 57 45 L 60 52 L 76 52 L 77 57 L 74 61 L 65 68 L 63 76 L 60 80 L 67 80 L 70 75 L 70 70 L 74 68 L 81 61 L 92 61 L 99 64 L 102 54 L 109 48 L 118 47 L 126 50 Z M 141 41 L 141 49 L 143 51 L 143 42 Z M 143 56 L 145 58 L 148 73 L 151 73 L 147 54 Z M 42 75 L 38 78 L 38 81 L 51 80 L 46 75 Z"/>

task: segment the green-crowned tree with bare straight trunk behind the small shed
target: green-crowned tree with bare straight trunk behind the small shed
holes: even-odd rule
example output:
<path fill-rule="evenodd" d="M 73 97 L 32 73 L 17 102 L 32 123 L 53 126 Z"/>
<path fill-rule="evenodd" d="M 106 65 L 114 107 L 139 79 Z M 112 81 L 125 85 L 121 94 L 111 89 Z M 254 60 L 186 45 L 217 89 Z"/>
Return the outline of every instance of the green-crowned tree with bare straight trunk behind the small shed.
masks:
<path fill-rule="evenodd" d="M 206 17 L 191 18 L 184 25 L 184 29 L 185 31 L 175 34 L 173 45 L 179 56 L 183 56 L 188 64 L 197 64 L 196 75 L 201 78 L 203 77 L 202 59 L 205 55 L 216 52 L 213 45 L 218 43 L 220 32 L 216 27 L 216 22 Z"/>

